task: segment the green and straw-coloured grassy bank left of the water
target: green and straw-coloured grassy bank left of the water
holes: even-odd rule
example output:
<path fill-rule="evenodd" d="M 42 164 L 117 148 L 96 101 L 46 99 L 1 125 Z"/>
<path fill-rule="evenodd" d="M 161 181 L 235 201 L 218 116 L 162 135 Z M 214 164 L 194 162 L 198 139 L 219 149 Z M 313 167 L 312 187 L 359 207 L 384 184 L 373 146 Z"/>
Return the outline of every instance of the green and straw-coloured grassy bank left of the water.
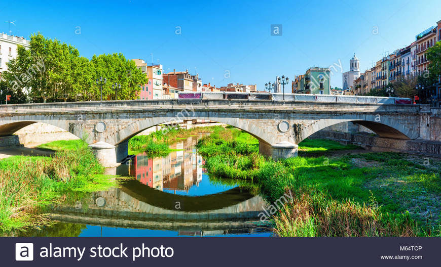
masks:
<path fill-rule="evenodd" d="M 83 141 L 56 141 L 40 147 L 57 151 L 52 157 L 0 160 L 2 231 L 47 224 L 47 218 L 36 211 L 62 199 L 66 192 L 94 192 L 116 185 L 101 174 L 103 167 Z"/>

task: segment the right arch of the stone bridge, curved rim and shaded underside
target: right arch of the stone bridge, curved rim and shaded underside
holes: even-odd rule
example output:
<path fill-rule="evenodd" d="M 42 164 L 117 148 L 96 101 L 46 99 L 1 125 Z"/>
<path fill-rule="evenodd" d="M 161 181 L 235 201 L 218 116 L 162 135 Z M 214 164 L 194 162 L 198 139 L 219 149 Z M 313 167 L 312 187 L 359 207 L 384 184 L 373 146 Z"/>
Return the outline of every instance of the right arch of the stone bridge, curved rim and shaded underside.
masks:
<path fill-rule="evenodd" d="M 417 131 L 413 131 L 409 127 L 405 127 L 401 123 L 394 119 L 388 118 L 386 116 L 376 116 L 376 115 L 366 115 L 362 118 L 359 116 L 353 116 L 354 118 L 335 118 L 335 119 L 319 119 L 313 121 L 307 126 L 302 127 L 301 131 L 298 133 L 296 139 L 300 143 L 313 133 L 320 131 L 326 127 L 343 123 L 343 122 L 354 122 L 360 124 L 383 138 L 394 138 L 394 139 L 417 139 L 419 134 Z"/>

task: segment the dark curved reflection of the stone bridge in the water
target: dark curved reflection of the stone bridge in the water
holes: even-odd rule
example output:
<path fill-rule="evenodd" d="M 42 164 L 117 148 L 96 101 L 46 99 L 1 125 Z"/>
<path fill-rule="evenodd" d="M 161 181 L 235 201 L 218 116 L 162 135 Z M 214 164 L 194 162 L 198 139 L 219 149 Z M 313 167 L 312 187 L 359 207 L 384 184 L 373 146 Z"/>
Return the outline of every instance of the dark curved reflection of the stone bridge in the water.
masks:
<path fill-rule="evenodd" d="M 105 204 L 98 206 L 98 199 L 100 203 L 104 199 Z M 173 230 L 186 235 L 250 233 L 267 226 L 259 221 L 264 206 L 262 198 L 240 188 L 189 197 L 168 194 L 131 180 L 121 188 L 94 193 L 86 205 L 58 206 L 51 216 L 64 222 Z"/>

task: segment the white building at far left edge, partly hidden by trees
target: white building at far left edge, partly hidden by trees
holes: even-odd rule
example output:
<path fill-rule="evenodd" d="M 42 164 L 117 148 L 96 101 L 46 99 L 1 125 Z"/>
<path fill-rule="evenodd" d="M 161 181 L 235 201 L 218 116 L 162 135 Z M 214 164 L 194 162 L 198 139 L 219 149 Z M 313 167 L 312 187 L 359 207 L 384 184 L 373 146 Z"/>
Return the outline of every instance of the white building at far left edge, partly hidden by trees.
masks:
<path fill-rule="evenodd" d="M 18 44 L 29 48 L 29 42 L 29 40 L 23 37 L 0 32 L 0 78 L 2 77 L 2 72 L 8 70 L 6 63 L 17 57 Z"/>

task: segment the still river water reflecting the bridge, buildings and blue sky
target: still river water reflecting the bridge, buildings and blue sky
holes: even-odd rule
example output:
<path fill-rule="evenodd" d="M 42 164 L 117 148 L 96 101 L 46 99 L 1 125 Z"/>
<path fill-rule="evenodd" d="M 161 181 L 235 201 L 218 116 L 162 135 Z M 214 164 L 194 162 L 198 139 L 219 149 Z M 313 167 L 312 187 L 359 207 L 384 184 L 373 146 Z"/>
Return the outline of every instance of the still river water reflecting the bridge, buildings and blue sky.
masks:
<path fill-rule="evenodd" d="M 263 199 L 252 186 L 210 177 L 195 148 L 199 137 L 171 145 L 173 152 L 165 157 L 141 153 L 106 169 L 119 175 L 120 188 L 67 195 L 65 203 L 49 210 L 60 222 L 31 235 L 270 236 L 268 222 L 259 220 Z"/>

